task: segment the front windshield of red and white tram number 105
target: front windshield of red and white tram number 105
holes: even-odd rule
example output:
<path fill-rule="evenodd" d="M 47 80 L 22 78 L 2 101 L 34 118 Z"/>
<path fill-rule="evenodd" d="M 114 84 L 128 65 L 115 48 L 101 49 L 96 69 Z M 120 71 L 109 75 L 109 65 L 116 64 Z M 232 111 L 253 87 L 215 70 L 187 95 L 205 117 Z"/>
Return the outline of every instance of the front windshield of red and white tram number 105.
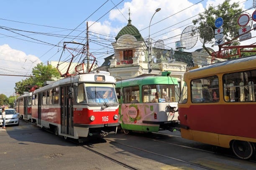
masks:
<path fill-rule="evenodd" d="M 78 103 L 117 103 L 113 84 L 82 83 L 78 86 Z"/>

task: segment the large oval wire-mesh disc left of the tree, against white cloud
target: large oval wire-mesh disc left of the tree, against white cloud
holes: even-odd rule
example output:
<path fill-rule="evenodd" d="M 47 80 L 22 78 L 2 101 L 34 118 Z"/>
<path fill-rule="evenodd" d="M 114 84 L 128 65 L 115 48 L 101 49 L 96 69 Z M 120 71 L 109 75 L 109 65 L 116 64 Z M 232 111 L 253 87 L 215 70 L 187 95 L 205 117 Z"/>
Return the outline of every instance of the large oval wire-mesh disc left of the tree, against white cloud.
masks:
<path fill-rule="evenodd" d="M 195 46 L 198 40 L 198 31 L 197 28 L 193 25 L 187 26 L 183 31 L 180 37 L 180 40 L 183 42 L 184 47 L 188 50 Z"/>

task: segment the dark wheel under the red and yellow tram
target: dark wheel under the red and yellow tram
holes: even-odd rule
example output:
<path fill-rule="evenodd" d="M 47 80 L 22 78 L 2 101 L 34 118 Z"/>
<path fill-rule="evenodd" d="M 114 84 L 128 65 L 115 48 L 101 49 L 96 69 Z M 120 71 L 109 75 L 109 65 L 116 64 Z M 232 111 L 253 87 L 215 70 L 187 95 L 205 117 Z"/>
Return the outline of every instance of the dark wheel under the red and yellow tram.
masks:
<path fill-rule="evenodd" d="M 232 150 L 238 158 L 249 159 L 253 154 L 254 146 L 247 141 L 233 140 Z"/>

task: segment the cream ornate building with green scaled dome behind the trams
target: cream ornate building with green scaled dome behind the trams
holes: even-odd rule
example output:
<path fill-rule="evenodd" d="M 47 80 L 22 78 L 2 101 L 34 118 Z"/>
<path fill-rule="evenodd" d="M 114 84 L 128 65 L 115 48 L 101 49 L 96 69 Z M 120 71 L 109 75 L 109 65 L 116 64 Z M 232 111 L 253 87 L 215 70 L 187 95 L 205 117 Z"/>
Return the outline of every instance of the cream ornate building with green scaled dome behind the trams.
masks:
<path fill-rule="evenodd" d="M 131 24 L 130 17 L 115 40 L 112 43 L 115 53 L 106 57 L 97 70 L 108 71 L 117 80 L 148 74 L 148 46 L 138 29 Z M 161 75 L 162 71 L 171 71 L 171 76 L 176 77 L 182 86 L 184 72 L 194 67 L 193 58 L 205 58 L 205 53 L 199 55 L 202 53 L 153 48 L 151 74 Z M 208 55 L 207 60 L 211 60 L 211 56 Z"/>

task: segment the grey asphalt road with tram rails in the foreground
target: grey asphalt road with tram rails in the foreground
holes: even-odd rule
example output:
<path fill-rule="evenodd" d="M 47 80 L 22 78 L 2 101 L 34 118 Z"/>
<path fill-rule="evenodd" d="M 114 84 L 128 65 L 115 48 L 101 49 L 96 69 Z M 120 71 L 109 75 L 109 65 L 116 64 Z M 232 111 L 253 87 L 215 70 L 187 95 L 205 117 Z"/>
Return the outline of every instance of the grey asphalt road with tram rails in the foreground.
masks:
<path fill-rule="evenodd" d="M 255 162 L 211 152 L 211 145 L 180 138 L 179 132 L 162 133 L 170 136 L 118 133 L 79 145 L 20 120 L 19 126 L 0 128 L 0 165 L 5 170 L 127 170 L 122 163 L 138 170 L 256 169 Z"/>

